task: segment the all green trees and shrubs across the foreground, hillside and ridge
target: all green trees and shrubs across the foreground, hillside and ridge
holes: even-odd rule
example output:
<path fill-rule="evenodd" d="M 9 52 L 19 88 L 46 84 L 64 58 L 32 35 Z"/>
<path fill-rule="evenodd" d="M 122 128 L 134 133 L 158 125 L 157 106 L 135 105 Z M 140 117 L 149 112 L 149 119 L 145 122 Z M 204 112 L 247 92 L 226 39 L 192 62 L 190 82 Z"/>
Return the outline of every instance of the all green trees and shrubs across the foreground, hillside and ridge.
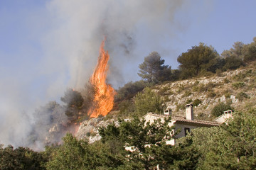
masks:
<path fill-rule="evenodd" d="M 171 118 L 151 124 L 142 119 L 144 114 L 162 113 L 166 107 L 161 91 L 158 94 L 152 91 L 159 84 L 221 75 L 255 65 L 255 60 L 256 38 L 250 44 L 235 42 L 221 55 L 214 47 L 199 43 L 177 57 L 178 69 L 171 69 L 164 64 L 158 52 L 151 52 L 139 64 L 138 74 L 142 79 L 128 82 L 117 90 L 113 110 L 118 111 L 115 116 L 119 123 L 100 128 L 101 140 L 89 143 L 67 133 L 61 144 L 50 142 L 41 152 L 28 147 L 0 145 L 0 169 L 255 169 L 255 106 L 236 110 L 233 118 L 219 127 L 192 130 L 174 146 L 165 143 L 173 137 L 169 134 L 173 127 L 168 126 Z M 247 74 L 256 72 L 251 70 Z M 244 85 L 240 81 L 233 86 L 239 88 Z M 200 86 L 197 88 L 199 92 L 205 90 L 199 89 Z M 61 98 L 65 103 L 63 106 L 51 101 L 36 113 L 47 111 L 52 123 L 66 119 L 68 123 L 78 123 L 88 119 L 86 113 L 92 95 L 93 87 L 90 85 L 81 92 L 68 89 Z M 246 98 L 245 93 L 241 95 L 241 98 Z M 201 101 L 193 102 L 196 106 Z M 219 103 L 211 114 L 217 117 L 227 109 L 233 109 L 230 103 Z M 129 118 L 129 121 L 124 118 Z M 35 130 L 40 130 L 39 126 L 35 126 Z M 33 134 L 31 137 L 36 138 Z M 136 149 L 130 152 L 125 149 L 129 146 Z"/>

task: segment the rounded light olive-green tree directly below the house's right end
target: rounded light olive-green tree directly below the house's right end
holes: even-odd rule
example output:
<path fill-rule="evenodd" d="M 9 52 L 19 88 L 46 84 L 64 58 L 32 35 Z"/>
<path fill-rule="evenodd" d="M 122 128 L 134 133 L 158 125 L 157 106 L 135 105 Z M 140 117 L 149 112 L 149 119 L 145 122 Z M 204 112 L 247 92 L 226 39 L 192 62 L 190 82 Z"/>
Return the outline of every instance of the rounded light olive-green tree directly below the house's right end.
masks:
<path fill-rule="evenodd" d="M 220 127 L 196 128 L 187 139 L 198 151 L 198 169 L 238 169 L 228 132 Z"/>

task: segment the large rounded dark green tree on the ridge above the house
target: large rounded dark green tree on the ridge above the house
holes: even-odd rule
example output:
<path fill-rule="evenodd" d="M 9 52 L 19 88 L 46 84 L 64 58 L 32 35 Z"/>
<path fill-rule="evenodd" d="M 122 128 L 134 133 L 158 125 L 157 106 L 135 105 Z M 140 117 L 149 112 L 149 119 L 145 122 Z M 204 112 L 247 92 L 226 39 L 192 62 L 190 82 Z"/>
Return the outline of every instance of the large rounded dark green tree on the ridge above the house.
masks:
<path fill-rule="evenodd" d="M 181 78 L 198 76 L 201 72 L 215 72 L 217 69 L 218 52 L 202 42 L 178 56 Z"/>

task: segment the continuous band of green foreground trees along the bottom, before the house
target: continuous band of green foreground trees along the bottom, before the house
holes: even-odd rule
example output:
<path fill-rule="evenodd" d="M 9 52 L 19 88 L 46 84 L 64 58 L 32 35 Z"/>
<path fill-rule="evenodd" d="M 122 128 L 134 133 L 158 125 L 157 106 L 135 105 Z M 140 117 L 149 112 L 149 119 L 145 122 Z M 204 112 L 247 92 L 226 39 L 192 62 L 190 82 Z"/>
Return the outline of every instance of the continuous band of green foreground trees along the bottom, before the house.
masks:
<path fill-rule="evenodd" d="M 197 128 L 193 135 L 166 145 L 168 123 L 144 119 L 119 120 L 102 127 L 102 140 L 89 144 L 71 134 L 63 145 L 31 149 L 0 148 L 1 169 L 255 169 L 256 110 L 236 112 L 228 124 Z M 125 149 L 131 146 L 133 151 Z M 150 146 L 150 147 L 149 147 Z"/>

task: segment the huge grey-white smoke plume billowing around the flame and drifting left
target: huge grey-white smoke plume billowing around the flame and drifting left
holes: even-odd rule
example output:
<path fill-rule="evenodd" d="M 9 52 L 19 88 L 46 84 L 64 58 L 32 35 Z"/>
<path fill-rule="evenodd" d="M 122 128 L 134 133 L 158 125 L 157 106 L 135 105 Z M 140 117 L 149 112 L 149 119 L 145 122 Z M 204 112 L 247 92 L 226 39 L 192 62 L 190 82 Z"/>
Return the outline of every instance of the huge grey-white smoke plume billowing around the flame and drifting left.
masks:
<path fill-rule="evenodd" d="M 23 51 L 16 54 L 20 60 L 15 60 L 21 64 L 18 69 L 11 70 L 17 64 L 9 69 L 0 67 L 4 82 L 0 84 L 0 143 L 28 146 L 26 138 L 31 132 L 39 143 L 44 140 L 40 135 L 45 136 L 51 114 L 61 115 L 63 108 L 58 106 L 60 110 L 50 113 L 44 109 L 35 112 L 35 108 L 46 101 L 59 101 L 67 87 L 85 88 L 105 37 L 105 50 L 110 54 L 109 83 L 117 88 L 138 79 L 138 65 L 151 51 L 168 56 L 175 50 L 169 40 L 186 30 L 176 15 L 185 12 L 190 2 L 50 0 L 44 5 L 25 17 L 23 30 L 36 45 L 21 47 Z M 1 51 L 0 55 L 8 57 Z M 35 128 L 38 122 L 41 128 Z"/>

